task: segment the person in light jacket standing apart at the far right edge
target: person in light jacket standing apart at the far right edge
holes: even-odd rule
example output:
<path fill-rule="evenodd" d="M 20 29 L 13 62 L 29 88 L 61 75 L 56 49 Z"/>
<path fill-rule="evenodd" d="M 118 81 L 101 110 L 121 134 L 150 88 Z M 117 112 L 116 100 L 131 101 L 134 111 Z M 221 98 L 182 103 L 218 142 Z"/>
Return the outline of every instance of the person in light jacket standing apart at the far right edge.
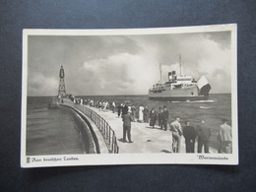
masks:
<path fill-rule="evenodd" d="M 231 154 L 232 153 L 232 128 L 227 125 L 227 120 L 223 119 L 223 124 L 219 132 L 219 141 L 221 150 L 219 153 Z"/>

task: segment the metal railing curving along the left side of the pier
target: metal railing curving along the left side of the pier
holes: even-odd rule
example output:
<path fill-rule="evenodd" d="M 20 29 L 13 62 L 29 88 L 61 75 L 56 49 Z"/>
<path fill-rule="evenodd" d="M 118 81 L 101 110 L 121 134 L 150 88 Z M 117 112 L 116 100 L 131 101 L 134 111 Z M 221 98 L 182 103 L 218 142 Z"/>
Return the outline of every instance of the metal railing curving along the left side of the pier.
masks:
<path fill-rule="evenodd" d="M 83 106 L 83 112 L 96 124 L 96 127 L 104 138 L 109 153 L 118 154 L 119 147 L 117 145 L 117 139 L 109 124 L 100 115 L 98 115 L 96 111 L 88 108 L 87 106 Z"/>

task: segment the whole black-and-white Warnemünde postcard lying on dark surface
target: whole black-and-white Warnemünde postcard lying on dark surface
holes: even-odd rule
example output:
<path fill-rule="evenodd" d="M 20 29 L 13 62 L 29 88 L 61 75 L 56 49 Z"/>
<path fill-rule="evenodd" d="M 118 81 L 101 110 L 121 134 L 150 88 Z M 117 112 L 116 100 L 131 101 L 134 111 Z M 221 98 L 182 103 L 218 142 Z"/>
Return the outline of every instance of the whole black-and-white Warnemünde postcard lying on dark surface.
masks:
<path fill-rule="evenodd" d="M 21 166 L 238 164 L 236 38 L 24 30 Z"/>

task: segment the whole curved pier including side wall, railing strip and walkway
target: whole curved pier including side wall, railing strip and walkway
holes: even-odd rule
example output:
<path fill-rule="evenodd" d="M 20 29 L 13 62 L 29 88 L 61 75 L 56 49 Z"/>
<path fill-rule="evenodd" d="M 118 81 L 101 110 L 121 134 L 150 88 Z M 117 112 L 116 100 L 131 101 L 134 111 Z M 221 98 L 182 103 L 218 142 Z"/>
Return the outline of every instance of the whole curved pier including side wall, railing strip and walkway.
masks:
<path fill-rule="evenodd" d="M 141 153 L 172 153 L 172 132 L 161 130 L 159 126 L 153 129 L 149 123 L 132 122 L 131 135 L 133 143 L 123 143 L 123 121 L 117 113 L 102 111 L 96 107 L 74 104 L 65 99 L 61 105 L 72 107 L 83 114 L 94 127 L 98 154 L 141 154 Z M 94 134 L 93 134 L 94 135 Z M 197 151 L 197 144 L 195 146 Z M 210 153 L 216 150 L 210 149 Z M 180 153 L 185 153 L 185 140 L 181 137 Z"/>

